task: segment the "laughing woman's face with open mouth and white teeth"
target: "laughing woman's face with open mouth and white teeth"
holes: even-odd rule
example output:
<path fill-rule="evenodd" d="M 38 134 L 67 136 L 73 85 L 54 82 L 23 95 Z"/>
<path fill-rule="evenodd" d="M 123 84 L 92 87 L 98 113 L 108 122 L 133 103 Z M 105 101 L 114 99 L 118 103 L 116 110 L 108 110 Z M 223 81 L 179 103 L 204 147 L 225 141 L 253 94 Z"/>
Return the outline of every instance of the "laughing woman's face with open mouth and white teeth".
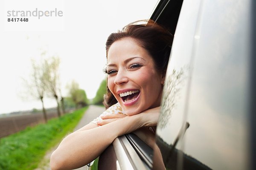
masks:
<path fill-rule="evenodd" d="M 108 50 L 108 88 L 131 116 L 160 105 L 163 77 L 152 57 L 132 38 L 114 42 Z"/>

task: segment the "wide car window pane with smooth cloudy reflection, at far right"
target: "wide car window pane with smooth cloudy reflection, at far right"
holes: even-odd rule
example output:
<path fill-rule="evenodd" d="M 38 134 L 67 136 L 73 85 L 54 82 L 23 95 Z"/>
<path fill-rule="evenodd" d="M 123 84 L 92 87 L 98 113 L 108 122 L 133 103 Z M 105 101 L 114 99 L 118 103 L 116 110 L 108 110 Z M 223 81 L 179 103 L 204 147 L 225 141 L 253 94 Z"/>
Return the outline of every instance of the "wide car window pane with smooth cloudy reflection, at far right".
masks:
<path fill-rule="evenodd" d="M 183 166 L 247 167 L 250 4 L 205 0 L 189 94 Z"/>

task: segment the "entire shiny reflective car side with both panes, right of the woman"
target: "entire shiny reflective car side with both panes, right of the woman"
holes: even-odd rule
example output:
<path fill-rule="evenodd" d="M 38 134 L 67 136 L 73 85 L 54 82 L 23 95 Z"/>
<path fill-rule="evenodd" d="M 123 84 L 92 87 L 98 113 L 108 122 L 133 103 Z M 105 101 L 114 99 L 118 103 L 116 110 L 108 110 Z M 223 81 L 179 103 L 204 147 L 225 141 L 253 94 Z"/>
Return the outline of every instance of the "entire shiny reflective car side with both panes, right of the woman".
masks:
<path fill-rule="evenodd" d="M 254 169 L 251 5 L 250 0 L 183 1 L 157 125 L 154 169 Z"/>

